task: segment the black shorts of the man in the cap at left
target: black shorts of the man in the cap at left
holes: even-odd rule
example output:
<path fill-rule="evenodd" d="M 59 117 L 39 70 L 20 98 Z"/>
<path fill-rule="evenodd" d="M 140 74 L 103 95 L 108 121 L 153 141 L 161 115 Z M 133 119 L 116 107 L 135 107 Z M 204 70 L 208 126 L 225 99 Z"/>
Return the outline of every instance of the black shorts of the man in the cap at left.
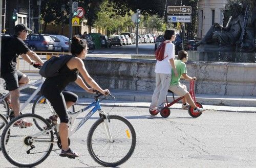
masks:
<path fill-rule="evenodd" d="M 5 80 L 6 89 L 9 91 L 15 90 L 18 88 L 18 81 L 22 79 L 23 73 L 17 70 L 16 73 L 7 73 L 3 74 L 2 78 Z"/>

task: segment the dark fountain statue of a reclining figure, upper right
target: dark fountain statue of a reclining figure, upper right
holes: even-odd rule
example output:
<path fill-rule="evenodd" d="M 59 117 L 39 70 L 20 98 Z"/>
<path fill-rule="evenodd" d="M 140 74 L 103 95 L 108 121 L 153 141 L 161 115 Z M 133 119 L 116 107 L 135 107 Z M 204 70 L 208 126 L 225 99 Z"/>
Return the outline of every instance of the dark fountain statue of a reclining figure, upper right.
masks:
<path fill-rule="evenodd" d="M 255 62 L 255 0 L 244 0 L 241 3 L 233 1 L 227 5 L 227 8 L 230 9 L 231 16 L 226 27 L 220 23 L 214 23 L 204 38 L 197 43 L 198 51 L 217 52 L 218 55 L 215 58 L 218 57 L 217 60 L 220 61 Z M 241 53 L 248 58 L 242 58 Z M 211 54 L 207 55 L 209 57 Z"/>

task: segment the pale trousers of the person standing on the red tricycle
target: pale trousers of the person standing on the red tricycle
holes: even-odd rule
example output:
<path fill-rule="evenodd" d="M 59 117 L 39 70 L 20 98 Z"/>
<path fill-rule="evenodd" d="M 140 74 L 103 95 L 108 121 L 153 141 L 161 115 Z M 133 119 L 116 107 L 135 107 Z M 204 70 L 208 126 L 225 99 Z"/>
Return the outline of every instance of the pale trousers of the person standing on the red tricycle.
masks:
<path fill-rule="evenodd" d="M 156 88 L 152 95 L 151 107 L 164 107 L 166 102 L 166 95 L 170 87 L 171 74 L 156 73 Z"/>

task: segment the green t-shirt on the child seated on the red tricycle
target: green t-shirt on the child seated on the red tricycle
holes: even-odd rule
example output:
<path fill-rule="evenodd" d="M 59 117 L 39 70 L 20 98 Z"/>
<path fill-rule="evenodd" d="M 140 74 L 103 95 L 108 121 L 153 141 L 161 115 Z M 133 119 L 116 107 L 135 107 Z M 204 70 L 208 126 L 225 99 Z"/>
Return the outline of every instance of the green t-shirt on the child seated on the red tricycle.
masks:
<path fill-rule="evenodd" d="M 179 85 L 180 77 L 182 74 L 187 74 L 186 64 L 181 60 L 174 60 L 177 69 L 178 77 L 175 76 L 174 70 L 172 69 L 172 80 L 170 81 L 170 86 Z"/>

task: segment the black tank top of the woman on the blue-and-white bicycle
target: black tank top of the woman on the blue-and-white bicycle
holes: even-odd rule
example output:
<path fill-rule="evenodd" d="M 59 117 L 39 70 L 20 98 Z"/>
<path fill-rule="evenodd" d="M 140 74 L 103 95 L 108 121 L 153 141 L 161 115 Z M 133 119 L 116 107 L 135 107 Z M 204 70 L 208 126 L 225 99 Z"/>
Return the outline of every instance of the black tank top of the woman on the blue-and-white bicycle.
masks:
<path fill-rule="evenodd" d="M 47 86 L 57 86 L 58 89 L 65 89 L 70 82 L 74 82 L 78 78 L 78 70 L 69 69 L 67 64 L 59 69 L 59 75 L 47 78 L 44 85 Z"/>

